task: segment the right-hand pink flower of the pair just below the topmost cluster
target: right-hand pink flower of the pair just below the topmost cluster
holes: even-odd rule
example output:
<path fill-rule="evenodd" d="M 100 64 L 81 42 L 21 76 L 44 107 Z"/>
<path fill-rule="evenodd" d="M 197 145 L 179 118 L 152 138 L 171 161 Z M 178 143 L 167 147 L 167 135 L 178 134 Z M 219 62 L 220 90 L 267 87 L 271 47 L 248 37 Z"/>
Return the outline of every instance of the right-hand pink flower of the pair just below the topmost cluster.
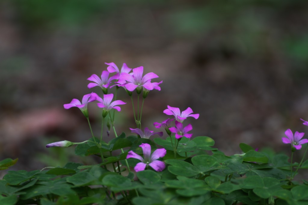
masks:
<path fill-rule="evenodd" d="M 96 100 L 99 101 L 99 103 L 97 103 L 97 106 L 99 106 L 100 108 L 103 108 L 103 116 L 107 116 L 108 112 L 113 108 L 116 109 L 117 111 L 121 111 L 121 108 L 119 106 L 119 104 L 126 104 L 126 102 L 117 100 L 117 101 L 112 101 L 113 98 L 113 94 L 107 94 L 104 95 L 104 98 L 102 99 L 101 97 L 99 97 L 96 93 Z"/>

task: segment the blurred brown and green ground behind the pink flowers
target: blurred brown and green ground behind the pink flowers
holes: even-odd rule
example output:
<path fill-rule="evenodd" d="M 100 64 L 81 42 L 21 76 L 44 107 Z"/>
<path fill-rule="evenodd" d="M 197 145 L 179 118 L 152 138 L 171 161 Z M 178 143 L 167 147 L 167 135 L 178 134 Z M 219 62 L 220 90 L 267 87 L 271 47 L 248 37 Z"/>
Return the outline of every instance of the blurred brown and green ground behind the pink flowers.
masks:
<path fill-rule="evenodd" d="M 193 136 L 229 155 L 241 142 L 289 152 L 285 130 L 308 131 L 306 0 L 1 0 L 0 160 L 18 157 L 13 169 L 26 170 L 83 161 L 72 147 L 45 145 L 90 138 L 79 109 L 63 104 L 99 93 L 87 78 L 105 62 L 163 80 L 145 101 L 143 128 L 157 132 L 167 105 L 191 107 Z M 130 135 L 131 102 L 119 91 L 127 104 L 116 129 Z M 98 135 L 95 103 L 89 112 Z"/>

